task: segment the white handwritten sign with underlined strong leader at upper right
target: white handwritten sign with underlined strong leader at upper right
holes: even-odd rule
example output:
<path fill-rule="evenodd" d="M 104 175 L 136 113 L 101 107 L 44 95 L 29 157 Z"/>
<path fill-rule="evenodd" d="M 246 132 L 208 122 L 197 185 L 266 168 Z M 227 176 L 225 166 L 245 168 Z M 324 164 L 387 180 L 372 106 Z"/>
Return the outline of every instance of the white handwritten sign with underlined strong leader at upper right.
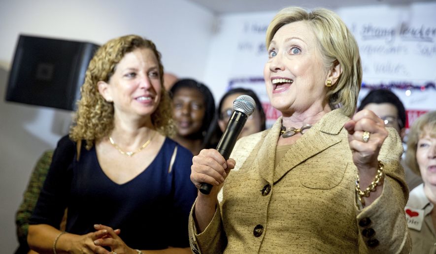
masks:
<path fill-rule="evenodd" d="M 364 83 L 435 82 L 435 12 L 435 3 L 339 10 L 359 44 Z"/>

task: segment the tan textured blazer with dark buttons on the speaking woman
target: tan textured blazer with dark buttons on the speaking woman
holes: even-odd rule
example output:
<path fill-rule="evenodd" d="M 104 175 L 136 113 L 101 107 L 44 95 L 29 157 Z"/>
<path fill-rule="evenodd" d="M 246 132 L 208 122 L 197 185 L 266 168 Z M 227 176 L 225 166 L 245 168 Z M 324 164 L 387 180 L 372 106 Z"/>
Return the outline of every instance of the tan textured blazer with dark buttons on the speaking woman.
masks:
<path fill-rule="evenodd" d="M 329 112 L 275 168 L 281 119 L 269 130 L 241 138 L 223 200 L 201 234 L 191 212 L 193 252 L 409 253 L 400 137 L 390 128 L 378 158 L 386 173 L 382 195 L 360 210 L 357 168 L 343 128 L 348 120 L 340 110 Z"/>

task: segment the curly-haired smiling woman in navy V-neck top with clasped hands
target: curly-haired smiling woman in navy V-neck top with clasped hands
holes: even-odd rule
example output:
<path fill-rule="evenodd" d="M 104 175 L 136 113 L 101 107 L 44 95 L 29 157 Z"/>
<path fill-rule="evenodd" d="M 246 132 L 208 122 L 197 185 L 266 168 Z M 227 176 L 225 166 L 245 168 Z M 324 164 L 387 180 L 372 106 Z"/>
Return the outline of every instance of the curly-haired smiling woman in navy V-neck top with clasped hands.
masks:
<path fill-rule="evenodd" d="M 189 252 L 192 154 L 167 137 L 174 124 L 163 71 L 153 42 L 136 35 L 97 51 L 30 222 L 33 250 Z"/>

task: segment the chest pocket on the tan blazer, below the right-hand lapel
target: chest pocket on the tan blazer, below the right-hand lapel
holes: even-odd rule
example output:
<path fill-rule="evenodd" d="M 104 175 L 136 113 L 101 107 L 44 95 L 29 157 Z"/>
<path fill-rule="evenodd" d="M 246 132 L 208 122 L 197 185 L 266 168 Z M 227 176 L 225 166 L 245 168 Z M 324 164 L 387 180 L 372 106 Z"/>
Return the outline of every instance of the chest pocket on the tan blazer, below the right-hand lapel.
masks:
<path fill-rule="evenodd" d="M 324 165 L 322 165 L 322 163 Z M 319 165 L 313 163 L 302 165 L 302 174 L 300 174 L 300 183 L 310 189 L 329 190 L 335 188 L 344 178 L 345 171 L 350 166 L 338 165 L 335 163 L 322 162 Z"/>

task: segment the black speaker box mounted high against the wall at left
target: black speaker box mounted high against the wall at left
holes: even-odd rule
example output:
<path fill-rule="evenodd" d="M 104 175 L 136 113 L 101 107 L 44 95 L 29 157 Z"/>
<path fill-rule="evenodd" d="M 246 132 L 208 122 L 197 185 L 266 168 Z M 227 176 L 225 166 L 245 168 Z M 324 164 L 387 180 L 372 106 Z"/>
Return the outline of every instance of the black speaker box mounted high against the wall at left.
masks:
<path fill-rule="evenodd" d="M 98 47 L 90 42 L 20 35 L 6 100 L 74 110 Z"/>

